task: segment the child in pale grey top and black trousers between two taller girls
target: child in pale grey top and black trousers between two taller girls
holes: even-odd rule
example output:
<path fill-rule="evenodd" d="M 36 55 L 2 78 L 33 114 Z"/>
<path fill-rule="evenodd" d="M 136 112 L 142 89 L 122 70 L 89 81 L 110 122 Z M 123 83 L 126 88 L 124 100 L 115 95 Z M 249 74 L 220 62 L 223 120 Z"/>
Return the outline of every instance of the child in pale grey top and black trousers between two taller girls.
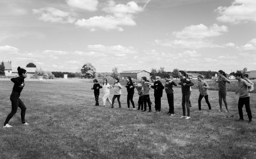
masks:
<path fill-rule="evenodd" d="M 204 77 L 202 77 L 201 75 L 198 75 L 197 76 L 197 80 L 198 80 L 198 86 L 195 86 L 195 87 L 199 87 L 199 99 L 198 99 L 198 109 L 199 111 L 201 111 L 201 100 L 205 99 L 207 105 L 208 105 L 208 108 L 209 110 L 211 110 L 211 104 L 208 100 L 208 84 L 204 81 Z"/>

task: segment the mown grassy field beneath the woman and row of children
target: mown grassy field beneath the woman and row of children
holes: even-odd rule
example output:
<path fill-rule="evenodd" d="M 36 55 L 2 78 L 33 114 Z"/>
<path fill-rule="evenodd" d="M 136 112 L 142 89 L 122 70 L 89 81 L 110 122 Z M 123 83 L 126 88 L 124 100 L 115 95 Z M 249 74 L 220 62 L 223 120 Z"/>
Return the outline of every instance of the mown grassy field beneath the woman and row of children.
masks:
<path fill-rule="evenodd" d="M 219 113 L 218 92 L 209 91 L 212 110 L 192 89 L 191 119 L 182 115 L 181 89 L 174 88 L 174 117 L 168 111 L 166 94 L 162 112 L 144 113 L 127 109 L 126 90 L 122 108 L 95 107 L 93 83 L 81 80 L 26 81 L 20 99 L 27 106 L 29 126 L 20 125 L 20 109 L 10 120 L 13 128 L 0 128 L 1 159 L 253 159 L 256 155 L 256 120 L 238 122 L 234 92 L 227 93 L 230 113 Z M 0 81 L 0 120 L 11 110 L 11 81 Z M 112 98 L 112 91 L 110 97 Z M 134 101 L 137 108 L 137 91 Z M 154 103 L 153 91 L 150 97 Z M 116 101 L 117 104 L 117 101 Z M 251 111 L 256 115 L 256 94 Z M 154 107 L 154 104 L 153 106 Z M 234 117 L 230 117 L 234 115 Z"/>

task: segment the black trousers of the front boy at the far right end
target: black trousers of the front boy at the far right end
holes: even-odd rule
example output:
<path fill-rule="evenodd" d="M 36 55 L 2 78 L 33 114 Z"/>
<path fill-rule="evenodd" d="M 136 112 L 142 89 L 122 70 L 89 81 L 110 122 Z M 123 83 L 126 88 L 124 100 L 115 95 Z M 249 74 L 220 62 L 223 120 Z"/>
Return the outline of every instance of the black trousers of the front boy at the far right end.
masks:
<path fill-rule="evenodd" d="M 239 98 L 238 100 L 238 111 L 239 111 L 239 116 L 241 119 L 244 119 L 243 117 L 243 106 L 245 105 L 245 109 L 247 112 L 247 116 L 249 119 L 252 118 L 251 116 L 251 109 L 250 109 L 250 97 L 245 97 L 245 98 Z"/>

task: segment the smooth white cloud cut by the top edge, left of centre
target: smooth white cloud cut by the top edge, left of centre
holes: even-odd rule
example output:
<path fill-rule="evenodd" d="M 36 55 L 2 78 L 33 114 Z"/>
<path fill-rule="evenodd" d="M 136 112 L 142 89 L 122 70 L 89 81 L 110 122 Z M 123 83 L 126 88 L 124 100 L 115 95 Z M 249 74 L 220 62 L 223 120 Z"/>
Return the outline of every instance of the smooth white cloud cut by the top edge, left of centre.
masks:
<path fill-rule="evenodd" d="M 88 11 L 96 11 L 98 0 L 66 0 L 70 7 L 80 8 Z"/>

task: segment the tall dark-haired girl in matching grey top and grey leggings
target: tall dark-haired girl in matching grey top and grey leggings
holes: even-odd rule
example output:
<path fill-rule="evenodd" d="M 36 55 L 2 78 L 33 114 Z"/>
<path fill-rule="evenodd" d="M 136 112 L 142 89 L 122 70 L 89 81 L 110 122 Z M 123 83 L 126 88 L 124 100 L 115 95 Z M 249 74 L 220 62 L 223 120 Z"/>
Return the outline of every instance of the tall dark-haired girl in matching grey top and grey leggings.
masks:
<path fill-rule="evenodd" d="M 224 71 L 219 70 L 217 74 L 219 75 L 218 81 L 214 80 L 214 82 L 217 82 L 219 86 L 219 112 L 222 112 L 222 99 L 226 107 L 225 112 L 229 112 L 228 103 L 226 101 L 226 95 L 227 95 L 226 83 L 230 84 L 230 81 L 227 79 L 226 73 Z"/>

